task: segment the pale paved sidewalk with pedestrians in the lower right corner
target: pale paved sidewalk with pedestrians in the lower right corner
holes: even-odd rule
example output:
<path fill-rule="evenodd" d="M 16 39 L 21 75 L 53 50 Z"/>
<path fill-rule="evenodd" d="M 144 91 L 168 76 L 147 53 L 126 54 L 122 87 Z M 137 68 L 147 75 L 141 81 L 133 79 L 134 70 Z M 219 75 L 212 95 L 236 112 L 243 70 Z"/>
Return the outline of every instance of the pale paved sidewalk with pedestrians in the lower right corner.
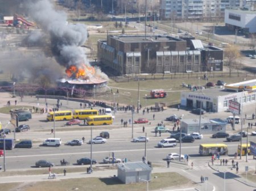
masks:
<path fill-rule="evenodd" d="M 208 163 L 209 167 L 216 172 L 223 173 L 222 176 L 224 176 L 224 172 L 225 172 L 226 179 L 234 179 L 236 181 L 242 182 L 247 186 L 256 188 L 256 182 L 246 180 L 246 178 L 242 176 L 242 175 L 246 175 L 246 172 L 245 172 L 246 167 L 248 167 L 249 172 L 256 171 L 256 166 L 255 166 L 256 161 L 253 159 L 253 156 L 248 156 L 247 162 L 246 162 L 245 156 L 242 156 L 242 159 L 240 159 L 240 156 L 237 156 L 237 159 L 234 159 L 233 157 L 230 157 L 230 156 L 224 156 L 221 159 L 225 159 L 225 160 L 227 159 L 228 164 L 221 165 L 220 160 L 215 160 L 213 162 L 213 165 L 212 165 L 212 162 Z M 234 164 L 238 162 L 238 173 L 236 173 L 236 167 L 235 168 L 232 167 L 232 160 L 234 160 Z"/>

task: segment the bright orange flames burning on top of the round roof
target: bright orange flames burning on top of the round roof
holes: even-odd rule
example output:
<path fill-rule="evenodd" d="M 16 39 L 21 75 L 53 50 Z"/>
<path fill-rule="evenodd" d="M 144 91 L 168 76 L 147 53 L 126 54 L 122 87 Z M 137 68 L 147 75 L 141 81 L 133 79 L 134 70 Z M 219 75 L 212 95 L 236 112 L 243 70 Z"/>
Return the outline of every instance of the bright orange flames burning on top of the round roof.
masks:
<path fill-rule="evenodd" d="M 67 70 L 65 70 L 65 72 L 67 73 L 68 77 L 75 77 L 76 79 L 78 78 L 82 78 L 85 79 L 86 78 L 86 74 L 95 74 L 95 69 L 93 66 L 86 66 L 85 64 L 82 64 L 81 67 L 77 67 L 75 65 L 71 65 L 68 67 Z"/>

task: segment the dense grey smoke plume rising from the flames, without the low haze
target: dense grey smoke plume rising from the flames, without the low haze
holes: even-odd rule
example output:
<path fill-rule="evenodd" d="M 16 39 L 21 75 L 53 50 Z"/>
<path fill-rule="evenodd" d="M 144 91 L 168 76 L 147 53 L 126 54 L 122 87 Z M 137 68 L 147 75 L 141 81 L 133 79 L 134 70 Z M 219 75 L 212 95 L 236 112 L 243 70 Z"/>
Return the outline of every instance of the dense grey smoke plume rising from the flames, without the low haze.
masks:
<path fill-rule="evenodd" d="M 79 66 L 82 63 L 89 66 L 85 53 L 80 48 L 87 40 L 84 24 L 69 24 L 67 14 L 56 11 L 48 0 L 28 3 L 28 10 L 36 25 L 49 36 L 51 50 L 57 62 L 65 67 Z M 108 79 L 100 69 L 96 69 L 96 74 Z"/>

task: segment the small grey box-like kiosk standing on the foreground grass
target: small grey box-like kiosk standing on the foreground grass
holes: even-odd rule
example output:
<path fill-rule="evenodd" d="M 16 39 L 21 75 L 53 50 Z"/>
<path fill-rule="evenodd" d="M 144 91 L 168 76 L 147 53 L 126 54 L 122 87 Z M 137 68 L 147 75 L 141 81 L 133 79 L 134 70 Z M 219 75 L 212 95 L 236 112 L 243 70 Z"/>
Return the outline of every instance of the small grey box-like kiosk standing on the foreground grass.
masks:
<path fill-rule="evenodd" d="M 117 177 L 125 184 L 151 179 L 152 168 L 143 162 L 117 164 Z"/>

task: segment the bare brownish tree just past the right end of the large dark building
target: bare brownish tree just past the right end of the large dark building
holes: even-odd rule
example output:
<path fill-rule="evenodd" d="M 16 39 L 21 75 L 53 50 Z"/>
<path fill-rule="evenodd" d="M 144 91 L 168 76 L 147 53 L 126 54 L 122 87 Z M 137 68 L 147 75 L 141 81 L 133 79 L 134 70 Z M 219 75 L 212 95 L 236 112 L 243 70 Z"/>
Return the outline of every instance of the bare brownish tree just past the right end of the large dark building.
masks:
<path fill-rule="evenodd" d="M 224 50 L 224 65 L 229 68 L 229 77 L 233 69 L 236 69 L 238 60 L 241 58 L 240 50 L 236 45 L 229 46 Z"/>

